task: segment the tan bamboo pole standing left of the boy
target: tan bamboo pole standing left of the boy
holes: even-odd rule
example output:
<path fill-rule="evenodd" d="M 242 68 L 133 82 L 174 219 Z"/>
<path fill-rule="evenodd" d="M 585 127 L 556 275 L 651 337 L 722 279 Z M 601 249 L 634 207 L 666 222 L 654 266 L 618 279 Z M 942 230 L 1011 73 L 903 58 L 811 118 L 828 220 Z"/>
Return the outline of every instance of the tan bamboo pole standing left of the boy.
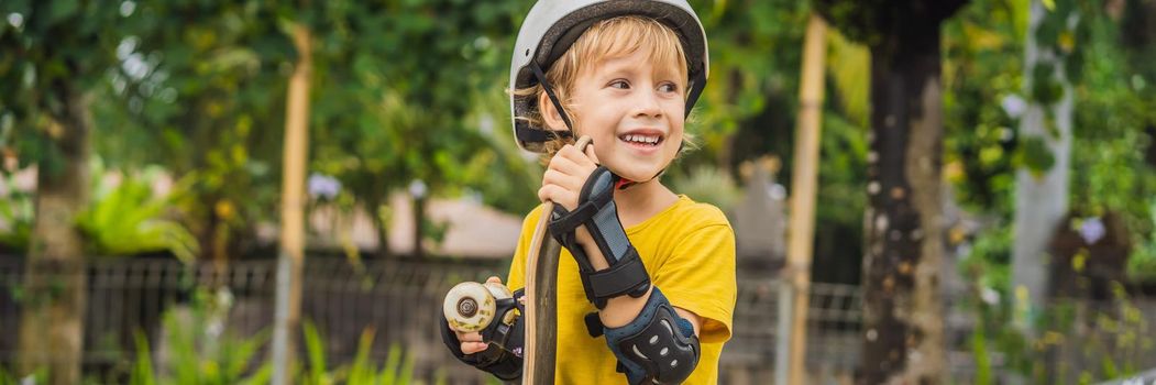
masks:
<path fill-rule="evenodd" d="M 273 384 L 292 382 L 294 335 L 301 318 L 301 269 L 305 249 L 305 158 L 309 150 L 309 87 L 313 72 L 312 36 L 307 27 L 294 25 L 297 65 L 289 79 L 286 142 L 281 186 L 281 252 L 277 254 L 276 304 L 273 328 Z"/>

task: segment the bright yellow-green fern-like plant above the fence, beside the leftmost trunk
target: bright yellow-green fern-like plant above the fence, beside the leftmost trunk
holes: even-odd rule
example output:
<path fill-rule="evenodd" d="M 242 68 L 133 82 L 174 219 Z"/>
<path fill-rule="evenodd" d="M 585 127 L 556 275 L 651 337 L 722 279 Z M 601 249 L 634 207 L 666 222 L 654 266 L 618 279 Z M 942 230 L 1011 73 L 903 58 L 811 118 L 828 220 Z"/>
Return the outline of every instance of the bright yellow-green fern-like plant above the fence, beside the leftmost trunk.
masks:
<path fill-rule="evenodd" d="M 156 197 L 153 185 L 163 176 L 160 166 L 139 173 L 120 173 L 110 185 L 103 164 L 92 162 L 92 202 L 76 221 L 88 239 L 88 249 L 99 256 L 131 256 L 168 251 L 185 262 L 198 253 L 197 238 L 177 221 L 165 219 L 166 210 L 188 190 L 192 178 Z"/>

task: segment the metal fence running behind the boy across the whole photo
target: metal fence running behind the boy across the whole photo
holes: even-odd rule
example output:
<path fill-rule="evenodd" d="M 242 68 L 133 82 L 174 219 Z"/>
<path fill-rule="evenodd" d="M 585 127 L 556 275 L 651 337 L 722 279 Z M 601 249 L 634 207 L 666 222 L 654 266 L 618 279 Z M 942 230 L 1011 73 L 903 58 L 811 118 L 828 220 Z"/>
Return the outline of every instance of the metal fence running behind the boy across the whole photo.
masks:
<path fill-rule="evenodd" d="M 250 336 L 268 330 L 274 267 L 275 260 L 235 261 L 227 269 L 218 269 L 209 264 L 190 267 L 166 259 L 94 259 L 86 268 L 86 372 L 124 370 L 134 360 L 133 333 L 140 331 L 150 340 L 160 340 L 165 333 L 162 316 L 187 309 L 198 287 L 227 289 L 222 293 L 229 294 L 231 305 L 225 324 L 232 335 Z M 483 383 L 483 373 L 458 363 L 443 347 L 437 312 L 453 284 L 482 281 L 490 275 L 505 276 L 506 267 L 505 261 L 377 260 L 361 265 L 343 258 L 311 257 L 304 267 L 302 317 L 312 320 L 325 336 L 331 365 L 351 361 L 358 336 L 371 327 L 376 331 L 371 357 L 379 362 L 390 346 L 395 345 L 414 358 L 415 378 L 422 382 Z M 22 275 L 18 258 L 0 257 L 0 330 L 7 331 L 0 333 L 0 363 L 15 358 L 20 309 L 14 294 Z M 741 272 L 734 335 L 724 349 L 720 383 L 773 383 L 778 291 L 779 281 L 771 273 Z M 859 362 L 860 309 L 858 287 L 812 284 L 807 327 L 809 383 L 850 383 Z M 1136 306 L 1135 311 L 1139 316 L 1134 317 L 1156 319 L 1156 304 L 1151 302 Z M 948 318 L 951 377 L 956 383 L 969 383 L 975 371 L 966 345 L 970 327 Z M 1084 334 L 1096 333 L 1084 331 Z M 1150 349 L 1135 350 L 1139 358 L 1129 360 L 1150 361 Z M 1073 353 L 1066 354 L 1064 357 Z"/>

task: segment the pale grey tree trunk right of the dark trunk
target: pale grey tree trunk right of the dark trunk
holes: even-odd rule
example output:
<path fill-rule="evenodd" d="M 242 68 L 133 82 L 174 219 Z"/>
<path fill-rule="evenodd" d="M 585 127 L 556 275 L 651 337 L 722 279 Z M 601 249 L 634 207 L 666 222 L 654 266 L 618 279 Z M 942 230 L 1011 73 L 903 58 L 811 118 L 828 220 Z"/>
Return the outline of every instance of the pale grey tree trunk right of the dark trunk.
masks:
<path fill-rule="evenodd" d="M 1036 30 L 1047 9 L 1039 0 L 1031 1 L 1028 37 L 1024 43 L 1024 86 L 1030 95 L 1032 72 L 1039 65 L 1054 66 L 1054 81 L 1064 95 L 1052 105 L 1029 98 L 1028 109 L 1020 120 L 1020 142 L 1042 140 L 1054 163 L 1047 170 L 1032 171 L 1027 166 L 1016 170 L 1015 245 L 1011 253 L 1011 281 L 1015 290 L 1028 291 L 1031 309 L 1043 309 L 1047 295 L 1050 256 L 1047 244 L 1068 210 L 1068 164 L 1072 154 L 1072 82 L 1064 73 L 1064 62 L 1050 49 L 1039 46 Z M 1050 110 L 1050 111 L 1048 111 Z M 1051 114 L 1054 131 L 1047 127 Z M 1031 321 L 1021 319 L 1021 328 L 1032 330 Z"/>

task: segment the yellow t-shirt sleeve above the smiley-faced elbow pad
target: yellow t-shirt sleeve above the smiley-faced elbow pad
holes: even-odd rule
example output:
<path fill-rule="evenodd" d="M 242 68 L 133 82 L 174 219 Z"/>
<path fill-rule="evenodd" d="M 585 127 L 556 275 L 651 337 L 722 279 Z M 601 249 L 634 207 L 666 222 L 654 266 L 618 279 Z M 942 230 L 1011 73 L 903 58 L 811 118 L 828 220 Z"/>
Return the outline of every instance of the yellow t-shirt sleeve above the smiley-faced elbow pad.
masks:
<path fill-rule="evenodd" d="M 702 318 L 701 341 L 729 340 L 738 296 L 734 230 L 724 222 L 691 231 L 654 274 L 654 284 L 674 306 Z"/>

